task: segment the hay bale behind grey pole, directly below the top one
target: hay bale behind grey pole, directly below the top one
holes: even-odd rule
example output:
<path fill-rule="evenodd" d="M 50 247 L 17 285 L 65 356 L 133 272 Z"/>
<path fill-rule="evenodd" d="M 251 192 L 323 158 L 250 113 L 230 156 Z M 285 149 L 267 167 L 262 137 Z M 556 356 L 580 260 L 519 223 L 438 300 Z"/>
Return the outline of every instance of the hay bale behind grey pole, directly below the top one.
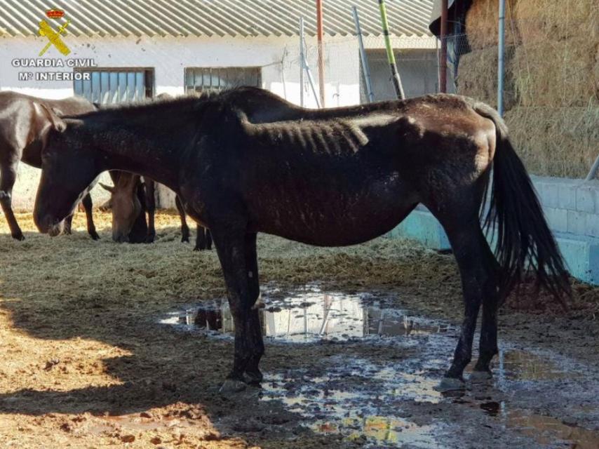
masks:
<path fill-rule="evenodd" d="M 513 47 L 506 48 L 506 63 L 513 57 Z M 497 49 L 486 48 L 462 55 L 456 79 L 457 93 L 497 107 Z M 516 105 L 516 88 L 511 72 L 504 79 L 504 109 Z"/>

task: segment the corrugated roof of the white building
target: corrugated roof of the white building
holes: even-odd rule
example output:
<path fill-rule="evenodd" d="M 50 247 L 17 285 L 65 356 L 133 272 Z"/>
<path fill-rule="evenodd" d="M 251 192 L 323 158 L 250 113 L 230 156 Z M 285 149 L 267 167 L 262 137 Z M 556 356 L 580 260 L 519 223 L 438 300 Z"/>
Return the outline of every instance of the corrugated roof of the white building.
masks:
<path fill-rule="evenodd" d="M 391 34 L 431 36 L 433 0 L 386 0 Z M 382 34 L 377 0 L 323 0 L 330 36 Z M 300 16 L 316 32 L 316 0 L 1 0 L 0 34 L 36 36 L 46 10 L 60 8 L 75 36 L 294 36 Z"/>

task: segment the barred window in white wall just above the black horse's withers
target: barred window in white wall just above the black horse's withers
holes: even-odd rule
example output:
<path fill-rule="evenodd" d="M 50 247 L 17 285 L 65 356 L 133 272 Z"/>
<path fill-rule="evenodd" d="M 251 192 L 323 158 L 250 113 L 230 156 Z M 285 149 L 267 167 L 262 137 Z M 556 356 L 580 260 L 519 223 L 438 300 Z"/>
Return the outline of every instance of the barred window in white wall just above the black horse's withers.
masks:
<path fill-rule="evenodd" d="M 185 68 L 185 93 L 218 92 L 238 86 L 262 86 L 260 67 Z"/>

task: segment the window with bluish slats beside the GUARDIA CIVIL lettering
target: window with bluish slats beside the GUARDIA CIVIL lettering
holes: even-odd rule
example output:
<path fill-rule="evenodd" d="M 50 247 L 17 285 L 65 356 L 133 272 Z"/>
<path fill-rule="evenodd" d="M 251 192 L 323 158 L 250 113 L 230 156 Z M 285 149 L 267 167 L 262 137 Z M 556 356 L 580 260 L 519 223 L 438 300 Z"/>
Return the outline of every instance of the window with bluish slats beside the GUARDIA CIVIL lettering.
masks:
<path fill-rule="evenodd" d="M 152 97 L 153 69 L 81 69 L 90 73 L 89 80 L 74 81 L 75 95 L 102 105 L 134 102 Z"/>

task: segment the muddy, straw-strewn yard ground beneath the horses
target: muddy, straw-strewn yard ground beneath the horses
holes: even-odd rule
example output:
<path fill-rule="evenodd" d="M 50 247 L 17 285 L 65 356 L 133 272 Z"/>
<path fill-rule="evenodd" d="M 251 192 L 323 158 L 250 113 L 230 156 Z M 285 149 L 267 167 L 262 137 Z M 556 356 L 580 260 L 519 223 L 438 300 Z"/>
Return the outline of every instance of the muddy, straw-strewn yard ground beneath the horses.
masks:
<path fill-rule="evenodd" d="M 575 285 L 567 312 L 532 286 L 513 295 L 494 379 L 443 395 L 462 314 L 451 255 L 260 236 L 264 286 L 354 295 L 439 330 L 267 339 L 262 389 L 222 396 L 231 339 L 159 323 L 224 297 L 215 253 L 180 243 L 169 213 L 137 246 L 112 243 L 96 217 L 98 242 L 81 214 L 55 239 L 22 214 L 23 242 L 0 217 L 1 448 L 599 448 L 596 288 Z"/>

